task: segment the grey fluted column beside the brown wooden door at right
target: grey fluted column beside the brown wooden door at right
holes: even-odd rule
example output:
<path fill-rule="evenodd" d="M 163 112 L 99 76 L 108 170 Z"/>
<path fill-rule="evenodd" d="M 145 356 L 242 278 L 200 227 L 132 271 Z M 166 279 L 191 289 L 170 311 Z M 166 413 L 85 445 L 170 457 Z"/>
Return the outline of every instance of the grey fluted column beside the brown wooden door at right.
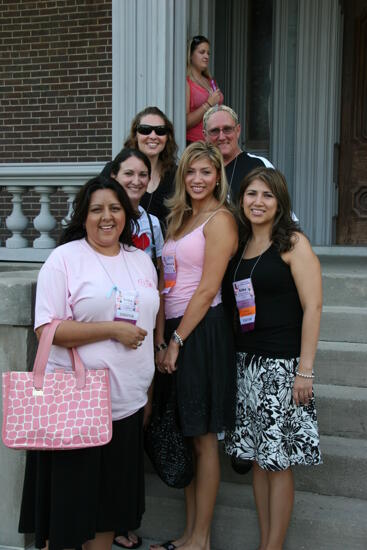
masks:
<path fill-rule="evenodd" d="M 290 0 L 291 1 L 291 0 Z M 299 0 L 293 209 L 315 245 L 332 244 L 334 143 L 339 141 L 339 0 Z"/>

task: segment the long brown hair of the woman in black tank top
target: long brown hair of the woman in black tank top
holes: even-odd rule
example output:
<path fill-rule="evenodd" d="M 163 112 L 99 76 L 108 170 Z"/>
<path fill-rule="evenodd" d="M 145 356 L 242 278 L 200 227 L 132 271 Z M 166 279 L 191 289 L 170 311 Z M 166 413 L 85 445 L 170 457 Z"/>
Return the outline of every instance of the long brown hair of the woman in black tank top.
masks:
<path fill-rule="evenodd" d="M 302 233 L 299 224 L 292 219 L 292 205 L 287 182 L 279 170 L 259 167 L 251 170 L 241 183 L 237 200 L 237 217 L 239 222 L 240 242 L 246 243 L 252 235 L 251 223 L 243 211 L 243 196 L 246 189 L 255 179 L 263 181 L 277 200 L 277 213 L 273 223 L 271 240 L 280 253 L 293 248 L 295 233 Z"/>

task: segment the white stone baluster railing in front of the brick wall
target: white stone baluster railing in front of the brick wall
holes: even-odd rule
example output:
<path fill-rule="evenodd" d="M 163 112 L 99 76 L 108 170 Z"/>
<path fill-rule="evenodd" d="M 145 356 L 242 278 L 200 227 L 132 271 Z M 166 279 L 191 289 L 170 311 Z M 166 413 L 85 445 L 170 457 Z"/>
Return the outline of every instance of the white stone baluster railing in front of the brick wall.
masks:
<path fill-rule="evenodd" d="M 70 220 L 72 205 L 78 189 L 90 178 L 100 173 L 99 163 L 55 163 L 55 164 L 2 164 L 0 165 L 0 186 L 11 195 L 12 211 L 1 220 L 2 227 L 11 236 L 5 246 L 0 246 L 0 261 L 44 261 L 55 247 L 50 232 L 56 227 L 56 219 L 50 211 L 50 201 L 56 191 L 65 195 L 67 214 L 61 225 Z M 28 242 L 22 233 L 32 227 L 22 209 L 22 197 L 30 189 L 39 196 L 39 210 L 33 219 L 33 228 L 40 233 L 33 242 Z"/>

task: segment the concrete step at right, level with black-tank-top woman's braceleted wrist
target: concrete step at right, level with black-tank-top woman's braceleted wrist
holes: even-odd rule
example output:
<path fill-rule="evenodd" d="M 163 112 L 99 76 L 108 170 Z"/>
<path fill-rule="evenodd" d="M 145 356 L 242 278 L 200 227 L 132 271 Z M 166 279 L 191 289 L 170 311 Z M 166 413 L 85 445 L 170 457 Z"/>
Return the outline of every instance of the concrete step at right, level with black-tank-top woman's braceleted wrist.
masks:
<path fill-rule="evenodd" d="M 367 344 L 320 341 L 315 372 L 320 384 L 367 388 Z"/>

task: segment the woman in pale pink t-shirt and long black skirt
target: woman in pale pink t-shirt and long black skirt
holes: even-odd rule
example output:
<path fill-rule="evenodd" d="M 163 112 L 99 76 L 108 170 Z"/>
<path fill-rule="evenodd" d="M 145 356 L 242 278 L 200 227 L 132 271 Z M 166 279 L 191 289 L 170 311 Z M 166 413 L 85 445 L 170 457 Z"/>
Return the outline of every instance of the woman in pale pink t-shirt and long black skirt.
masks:
<path fill-rule="evenodd" d="M 144 512 L 143 410 L 159 294 L 152 261 L 132 246 L 136 219 L 121 185 L 90 180 L 39 273 L 37 335 L 63 319 L 47 371 L 70 370 L 71 347 L 86 368 L 108 368 L 113 436 L 101 447 L 28 453 L 19 530 L 35 533 L 36 548 L 110 550 L 114 534 L 139 527 Z"/>

